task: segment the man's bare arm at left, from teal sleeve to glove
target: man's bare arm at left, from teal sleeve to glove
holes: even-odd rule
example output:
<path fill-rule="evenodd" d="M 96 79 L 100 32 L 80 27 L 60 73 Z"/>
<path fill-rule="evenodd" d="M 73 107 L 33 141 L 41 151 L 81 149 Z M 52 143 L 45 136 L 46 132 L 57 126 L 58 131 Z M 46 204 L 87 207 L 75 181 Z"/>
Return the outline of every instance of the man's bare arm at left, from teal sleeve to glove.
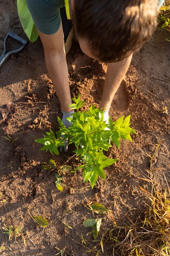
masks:
<path fill-rule="evenodd" d="M 64 36 L 62 23 L 60 29 L 52 35 L 46 35 L 38 31 L 43 47 L 46 67 L 53 81 L 54 88 L 59 98 L 61 109 L 64 112 L 71 111 L 70 88 L 68 83 L 68 67 L 64 50 Z"/>

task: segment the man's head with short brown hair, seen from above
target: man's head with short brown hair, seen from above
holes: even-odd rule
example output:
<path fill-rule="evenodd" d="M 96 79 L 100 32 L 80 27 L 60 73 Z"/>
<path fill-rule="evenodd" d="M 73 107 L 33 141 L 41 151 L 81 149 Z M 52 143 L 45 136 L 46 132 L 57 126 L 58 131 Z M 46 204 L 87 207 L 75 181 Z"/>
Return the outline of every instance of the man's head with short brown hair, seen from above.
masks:
<path fill-rule="evenodd" d="M 137 51 L 157 26 L 157 0 L 72 0 L 82 51 L 116 62 Z"/>

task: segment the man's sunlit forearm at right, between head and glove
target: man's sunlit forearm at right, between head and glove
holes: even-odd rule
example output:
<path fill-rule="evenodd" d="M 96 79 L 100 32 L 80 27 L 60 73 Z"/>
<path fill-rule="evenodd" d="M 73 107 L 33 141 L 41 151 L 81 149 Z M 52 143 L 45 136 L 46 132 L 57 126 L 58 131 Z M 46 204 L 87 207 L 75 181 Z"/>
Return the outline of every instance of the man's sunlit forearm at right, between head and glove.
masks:
<path fill-rule="evenodd" d="M 124 59 L 123 61 L 108 63 L 106 79 L 104 81 L 104 88 L 102 93 L 102 100 L 100 102 L 99 108 L 109 110 L 115 93 L 119 88 L 121 81 L 124 79 L 124 76 L 130 65 L 132 59 L 132 54 Z"/>

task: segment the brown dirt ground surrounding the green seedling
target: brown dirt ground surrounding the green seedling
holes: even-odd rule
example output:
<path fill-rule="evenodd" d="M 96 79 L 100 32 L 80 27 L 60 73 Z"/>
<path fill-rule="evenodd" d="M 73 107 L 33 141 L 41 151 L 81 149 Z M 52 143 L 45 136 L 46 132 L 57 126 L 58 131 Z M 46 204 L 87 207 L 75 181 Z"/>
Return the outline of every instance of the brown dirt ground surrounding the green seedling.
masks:
<path fill-rule="evenodd" d="M 26 38 L 22 31 L 15 1 L 0 0 L 0 52 L 8 31 Z M 12 55 L 0 68 L 0 252 L 4 256 L 50 255 L 64 249 L 66 256 L 96 255 L 86 252 L 81 234 L 92 245 L 90 229 L 83 227 L 86 218 L 93 218 L 87 209 L 90 202 L 100 202 L 112 211 L 117 225 L 136 220 L 147 208 L 146 195 L 139 186 L 150 190 L 147 182 L 150 156 L 161 142 L 152 162 L 152 180 L 159 191 L 170 182 L 170 51 L 157 30 L 144 47 L 134 54 L 124 81 L 115 96 L 110 117 L 131 114 L 132 127 L 137 131 L 133 143 L 122 141 L 118 150 L 109 149 L 107 156 L 119 161 L 106 168 L 106 181 L 99 179 L 94 189 L 83 183 L 82 173 L 68 173 L 62 184 L 55 186 L 54 171 L 46 171 L 42 162 L 55 159 L 57 166 L 77 166 L 71 148 L 66 154 L 52 156 L 39 151 L 34 142 L 51 128 L 57 130 L 57 115 L 62 117 L 60 103 L 44 63 L 43 49 L 38 39 L 22 52 Z M 9 46 L 13 42 L 9 42 Z M 99 104 L 106 64 L 94 61 L 79 49 L 74 40 L 67 56 L 71 96 L 81 93 L 84 109 Z M 113 71 L 114 72 L 114 71 Z M 10 135 L 12 143 L 2 136 Z M 73 148 L 72 148 L 73 149 Z M 149 156 L 150 155 L 150 156 Z M 71 188 L 71 189 L 69 189 Z M 29 216 L 44 216 L 49 226 L 43 229 Z M 101 231 L 113 227 L 110 212 L 102 218 Z M 64 225 L 70 225 L 70 229 Z M 9 241 L 3 234 L 4 225 L 22 225 L 22 237 Z M 101 249 L 100 247 L 98 249 Z M 104 254 L 113 255 L 104 245 Z M 126 255 L 125 255 L 126 256 Z"/>

